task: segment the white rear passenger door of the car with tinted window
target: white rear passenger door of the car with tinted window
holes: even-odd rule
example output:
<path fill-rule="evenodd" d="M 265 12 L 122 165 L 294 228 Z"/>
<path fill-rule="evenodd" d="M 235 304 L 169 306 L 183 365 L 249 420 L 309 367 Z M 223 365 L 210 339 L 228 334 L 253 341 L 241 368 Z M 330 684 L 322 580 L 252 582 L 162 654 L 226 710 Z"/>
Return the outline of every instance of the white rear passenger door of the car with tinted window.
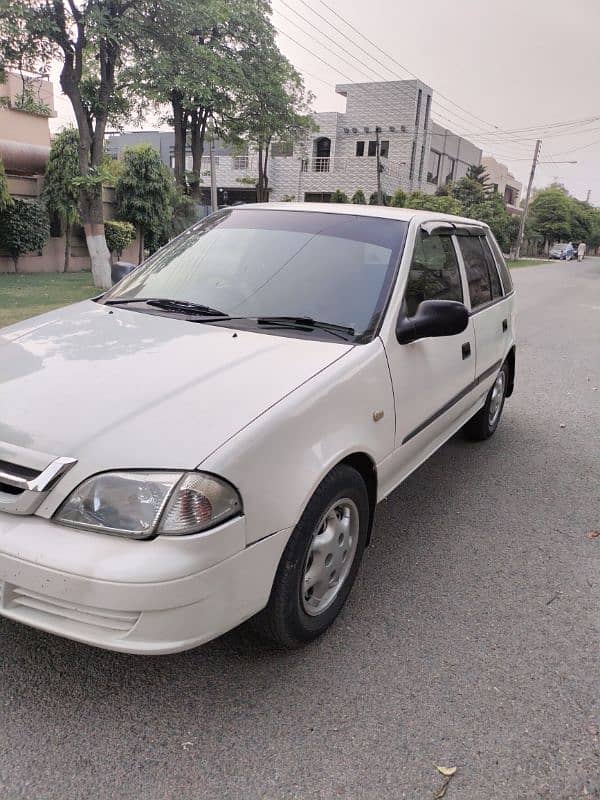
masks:
<path fill-rule="evenodd" d="M 511 308 L 506 300 L 496 261 L 483 229 L 456 237 L 469 287 L 468 303 L 475 329 L 475 378 L 491 382 L 506 355 Z"/>

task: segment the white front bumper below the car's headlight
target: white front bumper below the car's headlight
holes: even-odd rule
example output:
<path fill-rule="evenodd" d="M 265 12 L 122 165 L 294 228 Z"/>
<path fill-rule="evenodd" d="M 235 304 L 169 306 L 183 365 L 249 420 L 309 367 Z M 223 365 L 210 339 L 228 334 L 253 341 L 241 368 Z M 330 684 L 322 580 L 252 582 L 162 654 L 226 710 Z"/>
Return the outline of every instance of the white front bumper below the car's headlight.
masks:
<path fill-rule="evenodd" d="M 187 650 L 266 605 L 289 535 L 246 547 L 239 517 L 143 542 L 0 514 L 0 614 L 109 650 Z"/>

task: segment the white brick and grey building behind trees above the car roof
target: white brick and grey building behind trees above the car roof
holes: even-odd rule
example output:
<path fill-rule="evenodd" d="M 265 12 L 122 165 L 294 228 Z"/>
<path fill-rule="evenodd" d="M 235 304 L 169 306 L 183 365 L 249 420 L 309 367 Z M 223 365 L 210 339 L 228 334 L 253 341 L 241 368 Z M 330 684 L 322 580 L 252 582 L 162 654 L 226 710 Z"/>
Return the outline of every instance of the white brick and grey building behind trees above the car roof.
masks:
<path fill-rule="evenodd" d="M 421 81 L 340 84 L 336 91 L 346 98 L 344 112 L 317 113 L 315 132 L 293 145 L 276 142 L 272 146 L 271 200 L 328 201 L 336 189 L 349 197 L 362 189 L 368 200 L 377 191 L 378 146 L 381 189 L 388 195 L 399 188 L 433 193 L 447 176 L 458 180 L 471 164 L 481 161 L 479 148 L 432 121 L 433 90 Z M 116 158 L 125 147 L 142 142 L 156 147 L 163 162 L 173 166 L 172 132 L 110 135 L 107 149 Z M 256 199 L 258 168 L 251 149 L 240 153 L 216 142 L 215 162 L 220 204 Z M 191 153 L 186 164 L 191 167 Z M 202 180 L 208 205 L 208 144 Z"/>

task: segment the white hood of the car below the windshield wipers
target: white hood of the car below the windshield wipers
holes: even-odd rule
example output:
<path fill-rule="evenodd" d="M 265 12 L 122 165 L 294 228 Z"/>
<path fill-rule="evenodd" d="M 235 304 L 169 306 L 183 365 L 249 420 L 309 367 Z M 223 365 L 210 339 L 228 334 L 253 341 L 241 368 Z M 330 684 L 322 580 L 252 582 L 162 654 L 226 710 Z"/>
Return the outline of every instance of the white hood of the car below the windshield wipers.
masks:
<path fill-rule="evenodd" d="M 191 469 L 351 347 L 78 303 L 0 331 L 0 457 Z"/>

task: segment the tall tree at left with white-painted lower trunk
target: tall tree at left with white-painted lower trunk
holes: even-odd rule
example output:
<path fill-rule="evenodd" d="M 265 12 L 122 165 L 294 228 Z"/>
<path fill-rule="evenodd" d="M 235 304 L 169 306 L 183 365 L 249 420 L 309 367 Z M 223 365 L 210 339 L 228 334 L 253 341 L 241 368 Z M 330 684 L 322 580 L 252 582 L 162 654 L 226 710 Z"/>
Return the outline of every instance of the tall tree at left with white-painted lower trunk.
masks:
<path fill-rule="evenodd" d="M 124 110 L 123 65 L 151 49 L 145 31 L 159 29 L 164 6 L 177 0 L 11 0 L 0 9 L 0 60 L 6 67 L 43 73 L 61 58 L 60 85 L 79 132 L 79 209 L 94 283 L 109 288 L 110 254 L 104 238 L 104 133 Z"/>

